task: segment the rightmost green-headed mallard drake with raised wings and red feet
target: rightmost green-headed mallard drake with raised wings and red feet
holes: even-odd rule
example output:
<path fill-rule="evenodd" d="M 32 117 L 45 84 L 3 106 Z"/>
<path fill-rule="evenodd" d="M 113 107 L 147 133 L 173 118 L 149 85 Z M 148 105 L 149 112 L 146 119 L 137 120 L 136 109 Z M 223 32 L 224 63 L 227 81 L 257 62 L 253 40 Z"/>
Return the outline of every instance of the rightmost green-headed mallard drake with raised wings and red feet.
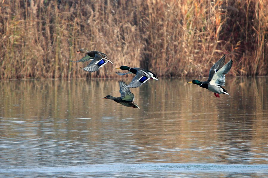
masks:
<path fill-rule="evenodd" d="M 192 80 L 188 83 L 199 85 L 202 88 L 206 88 L 214 92 L 214 95 L 217 98 L 219 98 L 219 94 L 222 93 L 229 95 L 229 93 L 227 93 L 227 90 L 222 88 L 222 86 L 225 86 L 225 74 L 230 71 L 233 61 L 230 60 L 227 64 L 225 64 L 225 66 L 223 66 L 224 61 L 225 55 L 211 67 L 211 69 L 209 70 L 209 77 L 207 81 L 200 82 L 199 80 Z"/>

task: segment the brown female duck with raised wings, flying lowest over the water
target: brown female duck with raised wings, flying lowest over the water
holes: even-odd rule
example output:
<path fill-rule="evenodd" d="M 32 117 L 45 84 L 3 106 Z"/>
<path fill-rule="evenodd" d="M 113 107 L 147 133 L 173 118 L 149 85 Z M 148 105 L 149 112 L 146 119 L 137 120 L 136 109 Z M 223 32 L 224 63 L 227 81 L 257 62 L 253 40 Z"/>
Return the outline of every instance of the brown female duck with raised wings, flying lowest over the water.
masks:
<path fill-rule="evenodd" d="M 120 97 L 115 98 L 111 95 L 107 95 L 103 98 L 111 99 L 127 107 L 139 108 L 139 106 L 134 102 L 134 94 L 130 92 L 130 89 L 127 87 L 127 84 L 123 81 L 119 81 L 119 88 L 119 93 L 121 93 Z"/>

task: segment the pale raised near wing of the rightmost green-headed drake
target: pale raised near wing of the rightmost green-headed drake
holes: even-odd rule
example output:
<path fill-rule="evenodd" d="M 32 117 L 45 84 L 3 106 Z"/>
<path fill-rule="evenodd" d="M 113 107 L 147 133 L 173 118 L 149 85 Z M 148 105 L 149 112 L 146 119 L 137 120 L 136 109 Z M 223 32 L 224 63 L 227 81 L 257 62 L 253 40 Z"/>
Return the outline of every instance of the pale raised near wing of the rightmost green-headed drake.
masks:
<path fill-rule="evenodd" d="M 213 75 L 209 83 L 211 85 L 225 86 L 225 74 L 227 74 L 230 71 L 232 64 L 233 64 L 233 61 L 230 60 L 227 64 L 225 64 L 225 66 L 223 66 Z"/>

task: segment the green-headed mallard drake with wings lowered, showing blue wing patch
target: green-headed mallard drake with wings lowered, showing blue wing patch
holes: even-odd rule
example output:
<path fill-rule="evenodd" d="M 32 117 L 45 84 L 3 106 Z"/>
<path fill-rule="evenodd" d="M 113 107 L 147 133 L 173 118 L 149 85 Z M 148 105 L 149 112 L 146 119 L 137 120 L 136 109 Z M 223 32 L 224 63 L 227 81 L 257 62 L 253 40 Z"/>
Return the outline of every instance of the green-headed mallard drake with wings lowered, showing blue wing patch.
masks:
<path fill-rule="evenodd" d="M 121 67 L 116 68 L 116 69 L 129 71 L 127 73 L 116 72 L 116 74 L 118 74 L 118 75 L 125 75 L 125 74 L 128 74 L 130 72 L 133 74 L 136 74 L 136 76 L 133 78 L 132 82 L 130 82 L 130 84 L 127 85 L 127 87 L 130 87 L 130 88 L 137 88 L 137 87 L 141 86 L 142 84 L 144 84 L 149 79 L 158 80 L 158 77 L 156 77 L 156 75 L 154 73 L 152 73 L 151 71 L 141 69 L 138 67 L 130 68 L 128 66 L 121 66 Z"/>

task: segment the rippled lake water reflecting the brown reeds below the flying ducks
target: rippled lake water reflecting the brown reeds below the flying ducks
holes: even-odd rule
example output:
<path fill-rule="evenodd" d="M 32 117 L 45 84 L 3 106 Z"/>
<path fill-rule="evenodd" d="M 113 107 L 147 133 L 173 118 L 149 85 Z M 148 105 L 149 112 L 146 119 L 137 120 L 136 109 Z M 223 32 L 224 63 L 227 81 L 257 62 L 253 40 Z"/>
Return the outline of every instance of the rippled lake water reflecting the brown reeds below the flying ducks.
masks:
<path fill-rule="evenodd" d="M 268 177 L 268 77 L 119 79 L 0 81 L 0 177 Z"/>

